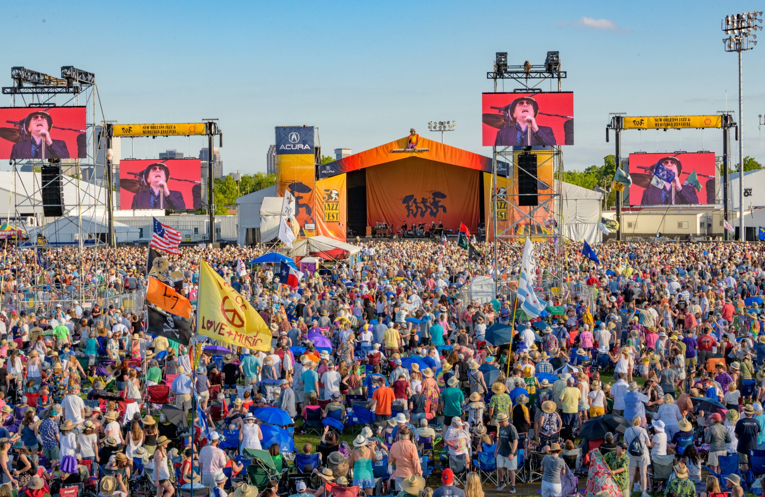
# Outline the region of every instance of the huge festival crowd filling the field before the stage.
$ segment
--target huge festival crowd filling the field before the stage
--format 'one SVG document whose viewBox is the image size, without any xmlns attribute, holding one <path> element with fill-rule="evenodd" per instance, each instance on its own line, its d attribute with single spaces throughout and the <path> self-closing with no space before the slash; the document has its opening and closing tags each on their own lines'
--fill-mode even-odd
<svg viewBox="0 0 765 497">
<path fill-rule="evenodd" d="M 721 482 L 734 495 L 757 488 L 759 245 L 610 242 L 594 263 L 579 244 L 539 243 L 532 280 L 561 282 L 555 294 L 540 287 L 539 317 L 519 313 L 512 294 L 470 296 L 474 276 L 516 278 L 520 245 L 500 245 L 497 274 L 451 243 L 359 245 L 360 262 L 331 261 L 297 287 L 272 265 L 239 274 L 259 247 L 163 254 L 192 304 L 200 258 L 230 281 L 269 326 L 268 350 L 177 343 L 148 333 L 143 311 L 82 297 L 144 287 L 145 247 L 51 249 L 44 261 L 6 247 L 0 482 L 29 497 L 70 485 L 127 497 L 142 481 L 157 497 L 194 487 L 480 497 L 488 471 L 498 492 L 538 474 L 545 497 L 575 493 L 580 477 L 598 497 L 646 497 L 663 461 L 665 490 L 683 497 Z M 34 304 L 9 305 L 20 294 Z M 213 345 L 225 349 L 204 352 Z M 262 408 L 286 417 L 271 422 Z M 295 453 L 280 430 L 301 440 Z M 277 468 L 264 479 L 250 474 L 257 450 Z M 702 466 L 724 473 L 736 456 L 726 478 L 702 478 Z"/>
</svg>

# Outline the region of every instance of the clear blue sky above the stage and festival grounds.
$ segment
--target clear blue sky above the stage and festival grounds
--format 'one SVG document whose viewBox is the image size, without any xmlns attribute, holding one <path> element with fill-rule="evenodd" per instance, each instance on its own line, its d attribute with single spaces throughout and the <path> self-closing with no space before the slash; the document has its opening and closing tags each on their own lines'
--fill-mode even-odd
<svg viewBox="0 0 765 497">
<path fill-rule="evenodd" d="M 494 53 L 542 63 L 559 50 L 575 92 L 576 144 L 565 167 L 613 153 L 609 112 L 714 114 L 737 106 L 737 57 L 721 18 L 760 2 L 6 2 L 0 84 L 10 67 L 96 73 L 106 119 L 220 118 L 224 172 L 265 170 L 275 125 L 315 125 L 324 154 L 428 138 L 430 120 L 457 120 L 446 142 L 490 154 L 480 138 L 480 94 Z M 34 7 L 33 7 L 34 6 Z M 34 35 L 33 35 L 34 34 Z M 765 39 L 765 37 L 763 37 Z M 744 154 L 765 160 L 765 44 L 744 53 Z M 543 86 L 545 83 L 543 83 Z M 506 83 L 506 89 L 516 85 Z M 8 105 L 9 97 L 2 97 Z M 60 100 L 59 100 L 60 101 Z M 721 132 L 630 132 L 623 152 L 710 150 Z M 703 144 L 702 144 L 703 141 Z M 135 156 L 175 148 L 197 156 L 202 138 L 136 139 Z M 737 145 L 734 145 L 737 148 Z M 122 142 L 129 157 L 129 140 Z"/>
</svg>

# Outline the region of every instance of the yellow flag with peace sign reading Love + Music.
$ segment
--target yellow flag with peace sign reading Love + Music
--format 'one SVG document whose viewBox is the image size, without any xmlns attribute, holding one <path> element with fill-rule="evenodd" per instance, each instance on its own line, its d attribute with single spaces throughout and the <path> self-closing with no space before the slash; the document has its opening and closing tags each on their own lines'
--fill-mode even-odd
<svg viewBox="0 0 765 497">
<path fill-rule="evenodd" d="M 271 330 L 257 310 L 200 261 L 197 332 L 248 349 L 271 350 Z"/>
</svg>

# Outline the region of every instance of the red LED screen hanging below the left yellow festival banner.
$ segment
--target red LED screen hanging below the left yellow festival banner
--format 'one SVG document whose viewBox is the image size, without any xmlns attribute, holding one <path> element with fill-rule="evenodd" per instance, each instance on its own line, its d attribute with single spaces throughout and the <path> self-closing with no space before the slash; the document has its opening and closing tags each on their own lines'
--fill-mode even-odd
<svg viewBox="0 0 765 497">
<path fill-rule="evenodd" d="M 119 161 L 119 204 L 129 209 L 202 208 L 199 159 L 123 159 Z"/>
</svg>

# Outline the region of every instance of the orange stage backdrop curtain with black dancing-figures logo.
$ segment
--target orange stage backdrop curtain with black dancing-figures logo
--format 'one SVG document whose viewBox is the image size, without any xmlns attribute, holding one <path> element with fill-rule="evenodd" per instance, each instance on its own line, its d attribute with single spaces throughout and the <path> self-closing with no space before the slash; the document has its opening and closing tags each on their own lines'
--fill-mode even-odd
<svg viewBox="0 0 765 497">
<path fill-rule="evenodd" d="M 406 158 L 366 170 L 366 224 L 464 223 L 477 232 L 480 171 L 422 158 Z M 353 209 L 353 206 L 349 206 Z"/>
</svg>

